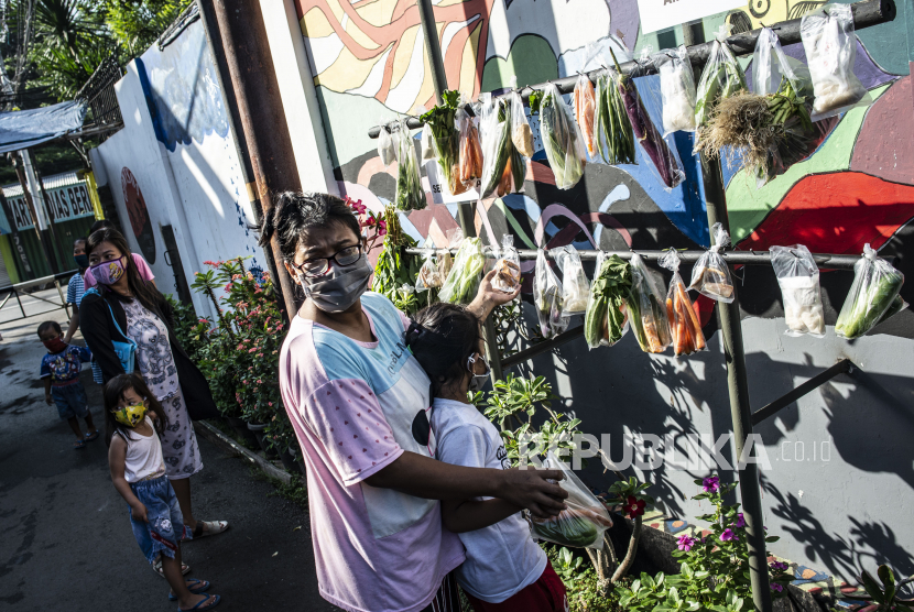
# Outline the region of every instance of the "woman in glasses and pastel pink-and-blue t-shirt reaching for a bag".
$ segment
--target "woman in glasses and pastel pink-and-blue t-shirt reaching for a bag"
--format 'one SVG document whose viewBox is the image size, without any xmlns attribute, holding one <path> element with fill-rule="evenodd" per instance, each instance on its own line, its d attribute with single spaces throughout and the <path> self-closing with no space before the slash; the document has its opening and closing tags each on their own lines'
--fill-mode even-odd
<svg viewBox="0 0 914 612">
<path fill-rule="evenodd" d="M 307 297 L 280 353 L 280 389 L 308 478 L 320 594 L 345 610 L 454 610 L 449 572 L 464 559 L 442 528 L 439 500 L 499 498 L 554 515 L 567 496 L 557 470 L 466 468 L 436 461 L 429 380 L 404 343 L 409 319 L 368 292 L 359 221 L 327 194 L 281 194 L 263 219 Z M 469 309 L 480 320 L 515 294 L 490 272 Z"/>
</svg>

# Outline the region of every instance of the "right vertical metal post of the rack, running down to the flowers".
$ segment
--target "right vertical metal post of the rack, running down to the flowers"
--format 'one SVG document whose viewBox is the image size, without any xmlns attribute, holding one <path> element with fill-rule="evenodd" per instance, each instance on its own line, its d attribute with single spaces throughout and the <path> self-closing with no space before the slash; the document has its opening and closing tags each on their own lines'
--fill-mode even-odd
<svg viewBox="0 0 914 612">
<path fill-rule="evenodd" d="M 705 183 L 705 200 L 708 208 L 708 227 L 722 223 L 729 232 L 727 197 L 719 160 L 708 160 L 701 154 L 701 175 Z M 714 240 L 714 236 L 711 236 Z M 729 265 L 729 264 L 728 264 Z M 732 266 L 730 266 L 732 275 Z M 733 420 L 736 442 L 735 463 L 742 457 L 747 437 L 752 434 L 752 414 L 749 404 L 749 385 L 746 378 L 746 350 L 742 345 L 739 292 L 733 283 L 733 302 L 717 303 L 720 337 L 723 341 L 723 359 L 727 362 L 727 386 L 730 391 L 730 415 Z M 771 587 L 768 580 L 762 495 L 757 463 L 739 465 L 740 498 L 749 533 L 749 576 L 752 583 L 752 601 L 755 612 L 771 612 Z"/>
</svg>

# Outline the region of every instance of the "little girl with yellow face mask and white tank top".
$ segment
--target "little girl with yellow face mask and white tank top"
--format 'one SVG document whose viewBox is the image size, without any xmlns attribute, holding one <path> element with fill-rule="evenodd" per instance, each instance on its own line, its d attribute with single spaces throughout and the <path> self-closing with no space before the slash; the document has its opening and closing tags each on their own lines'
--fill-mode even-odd
<svg viewBox="0 0 914 612">
<path fill-rule="evenodd" d="M 192 532 L 184 525 L 174 489 L 165 476 L 162 444 L 156 431 L 167 422 L 165 411 L 138 373 L 119 374 L 105 385 L 105 441 L 115 489 L 130 507 L 133 536 L 150 564 L 162 559 L 172 587 L 170 601 L 178 611 L 209 610 L 219 595 L 209 595 L 209 582 L 182 577 L 181 540 Z"/>
</svg>

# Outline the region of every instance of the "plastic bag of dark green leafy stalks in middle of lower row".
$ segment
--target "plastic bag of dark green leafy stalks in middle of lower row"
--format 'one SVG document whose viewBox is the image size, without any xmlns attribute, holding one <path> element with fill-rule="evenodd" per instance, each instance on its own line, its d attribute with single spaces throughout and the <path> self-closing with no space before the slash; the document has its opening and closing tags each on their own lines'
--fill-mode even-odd
<svg viewBox="0 0 914 612">
<path fill-rule="evenodd" d="M 628 332 L 625 297 L 631 284 L 629 263 L 619 255 L 607 258 L 600 251 L 584 317 L 584 339 L 590 349 L 611 347 Z"/>
</svg>

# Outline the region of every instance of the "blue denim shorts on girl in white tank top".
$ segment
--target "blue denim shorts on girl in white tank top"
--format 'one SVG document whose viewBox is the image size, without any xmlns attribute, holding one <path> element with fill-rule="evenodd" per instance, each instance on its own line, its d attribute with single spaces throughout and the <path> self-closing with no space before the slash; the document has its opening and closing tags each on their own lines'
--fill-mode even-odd
<svg viewBox="0 0 914 612">
<path fill-rule="evenodd" d="M 137 499 L 146 506 L 148 523 L 134 521 L 130 514 L 133 537 L 149 562 L 155 562 L 162 553 L 174 559 L 178 542 L 191 539 L 191 527 L 184 524 L 181 506 L 177 504 L 172 483 L 166 477 L 153 480 L 131 482 L 130 489 Z M 128 506 L 129 507 L 129 506 Z"/>
</svg>

